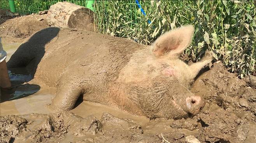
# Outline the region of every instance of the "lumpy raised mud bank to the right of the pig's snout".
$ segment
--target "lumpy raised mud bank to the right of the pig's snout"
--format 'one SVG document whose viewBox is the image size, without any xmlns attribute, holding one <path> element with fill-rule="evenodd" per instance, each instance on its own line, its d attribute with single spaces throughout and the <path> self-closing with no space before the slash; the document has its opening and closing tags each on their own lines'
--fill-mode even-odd
<svg viewBox="0 0 256 143">
<path fill-rule="evenodd" d="M 223 63 L 215 63 L 196 80 L 191 91 L 230 112 L 250 111 L 256 115 L 255 82 L 252 75 L 241 80 Z"/>
</svg>

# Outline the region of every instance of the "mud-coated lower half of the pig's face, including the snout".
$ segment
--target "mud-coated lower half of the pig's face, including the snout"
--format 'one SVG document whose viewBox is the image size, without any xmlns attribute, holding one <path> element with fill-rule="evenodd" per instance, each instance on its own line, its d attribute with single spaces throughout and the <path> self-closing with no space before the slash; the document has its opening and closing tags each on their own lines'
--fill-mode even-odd
<svg viewBox="0 0 256 143">
<path fill-rule="evenodd" d="M 137 95 L 141 110 L 149 118 L 192 117 L 205 105 L 202 97 L 195 96 L 176 78 L 159 75 L 147 82 L 134 84 L 130 94 Z"/>
</svg>

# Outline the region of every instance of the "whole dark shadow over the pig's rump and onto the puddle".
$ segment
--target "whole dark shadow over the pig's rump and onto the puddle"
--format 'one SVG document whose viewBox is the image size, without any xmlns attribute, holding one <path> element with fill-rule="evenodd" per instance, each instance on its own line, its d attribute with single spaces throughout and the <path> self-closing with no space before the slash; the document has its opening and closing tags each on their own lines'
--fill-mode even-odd
<svg viewBox="0 0 256 143">
<path fill-rule="evenodd" d="M 29 84 L 34 78 L 37 66 L 45 54 L 45 45 L 59 33 L 58 27 L 49 27 L 36 32 L 21 44 L 7 62 L 12 87 L 1 89 L 0 102 L 32 95 L 40 90 L 39 85 Z"/>
</svg>

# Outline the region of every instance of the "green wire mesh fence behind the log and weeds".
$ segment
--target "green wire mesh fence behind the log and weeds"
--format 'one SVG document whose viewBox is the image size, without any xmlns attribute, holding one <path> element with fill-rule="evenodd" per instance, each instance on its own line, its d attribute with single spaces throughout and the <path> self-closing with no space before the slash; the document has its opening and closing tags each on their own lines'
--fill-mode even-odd
<svg viewBox="0 0 256 143">
<path fill-rule="evenodd" d="M 75 3 L 76 5 L 80 5 L 82 7 L 86 7 L 88 4 L 88 0 L 14 0 L 15 10 L 16 13 L 20 15 L 29 15 L 32 13 L 38 13 L 42 10 L 48 10 L 51 5 L 54 5 L 57 2 L 71 2 Z M 137 3 L 136 3 L 137 2 Z M 141 0 L 121 0 L 120 3 L 123 4 L 126 14 L 126 21 L 129 22 L 129 26 L 132 28 L 134 24 L 137 24 L 138 19 L 138 3 L 140 3 L 140 7 L 143 7 L 144 2 Z M 2 10 L 10 10 L 8 0 L 0 0 L 0 9 Z M 109 11 L 109 5 L 112 2 L 109 0 L 95 0 L 94 5 L 98 5 L 101 9 L 98 9 L 101 12 L 105 13 L 107 18 Z M 141 8 L 142 9 L 142 8 Z M 139 10 L 141 10 L 139 9 Z M 141 10 L 143 11 L 143 9 Z M 112 11 L 111 11 L 112 12 Z"/>
</svg>

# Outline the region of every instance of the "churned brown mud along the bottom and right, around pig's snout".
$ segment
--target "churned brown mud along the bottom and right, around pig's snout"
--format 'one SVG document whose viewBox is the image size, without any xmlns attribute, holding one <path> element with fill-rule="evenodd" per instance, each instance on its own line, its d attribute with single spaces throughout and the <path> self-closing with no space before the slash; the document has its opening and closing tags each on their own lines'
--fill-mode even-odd
<svg viewBox="0 0 256 143">
<path fill-rule="evenodd" d="M 243 80 L 222 63 L 203 73 L 192 91 L 205 97 L 202 111 L 188 119 L 151 120 L 141 126 L 131 119 L 103 113 L 85 118 L 72 112 L 0 117 L 2 142 L 253 142 L 256 139 L 255 77 Z M 160 128 L 160 129 L 156 129 Z M 163 128 L 163 129 L 161 129 Z"/>
</svg>

